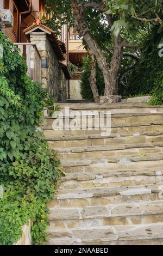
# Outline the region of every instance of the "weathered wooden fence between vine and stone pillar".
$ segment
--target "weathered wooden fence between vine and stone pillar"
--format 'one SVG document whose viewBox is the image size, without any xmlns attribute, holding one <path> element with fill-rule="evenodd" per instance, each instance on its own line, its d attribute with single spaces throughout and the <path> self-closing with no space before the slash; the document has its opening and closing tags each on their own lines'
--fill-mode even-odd
<svg viewBox="0 0 163 256">
<path fill-rule="evenodd" d="M 28 71 L 27 75 L 33 81 L 41 82 L 41 56 L 35 44 L 31 43 L 16 43 L 20 48 L 20 55 L 26 59 Z"/>
</svg>

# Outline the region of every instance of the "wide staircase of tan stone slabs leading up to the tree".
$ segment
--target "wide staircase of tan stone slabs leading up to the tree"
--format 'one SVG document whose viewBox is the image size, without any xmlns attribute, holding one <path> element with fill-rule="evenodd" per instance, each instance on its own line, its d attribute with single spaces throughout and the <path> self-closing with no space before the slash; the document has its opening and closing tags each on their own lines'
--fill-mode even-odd
<svg viewBox="0 0 163 256">
<path fill-rule="evenodd" d="M 67 173 L 48 204 L 48 244 L 163 245 L 163 106 L 60 106 L 111 111 L 111 135 L 54 131 L 57 117 L 45 117 L 45 137 Z"/>
</svg>

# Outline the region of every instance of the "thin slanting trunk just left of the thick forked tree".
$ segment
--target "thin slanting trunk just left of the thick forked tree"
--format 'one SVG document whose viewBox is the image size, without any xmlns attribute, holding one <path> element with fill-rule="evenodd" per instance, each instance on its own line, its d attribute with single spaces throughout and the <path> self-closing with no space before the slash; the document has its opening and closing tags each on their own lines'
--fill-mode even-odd
<svg viewBox="0 0 163 256">
<path fill-rule="evenodd" d="M 87 50 L 89 53 L 89 57 L 91 59 L 91 77 L 90 77 L 90 86 L 93 93 L 93 99 L 95 102 L 99 102 L 99 94 L 98 94 L 98 88 L 96 84 L 96 61 L 95 57 L 91 53 L 90 49 Z"/>
</svg>

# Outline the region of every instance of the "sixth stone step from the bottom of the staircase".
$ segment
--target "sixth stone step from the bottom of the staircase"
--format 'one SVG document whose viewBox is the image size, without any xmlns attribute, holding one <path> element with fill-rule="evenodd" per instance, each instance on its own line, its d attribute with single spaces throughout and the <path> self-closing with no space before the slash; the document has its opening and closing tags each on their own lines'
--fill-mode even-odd
<svg viewBox="0 0 163 256">
<path fill-rule="evenodd" d="M 136 142 L 136 141 L 135 141 Z M 100 142 L 99 142 L 100 143 Z M 102 142 L 103 143 L 103 142 Z M 163 143 L 142 143 L 142 144 L 120 144 L 120 145 L 98 145 L 87 147 L 71 147 L 71 148 L 54 148 L 54 144 L 50 144 L 51 148 L 57 150 L 61 160 L 71 159 L 90 159 L 107 157 L 132 157 L 145 156 L 150 154 L 159 154 L 163 152 Z M 75 145 L 75 144 L 74 144 Z"/>
</svg>

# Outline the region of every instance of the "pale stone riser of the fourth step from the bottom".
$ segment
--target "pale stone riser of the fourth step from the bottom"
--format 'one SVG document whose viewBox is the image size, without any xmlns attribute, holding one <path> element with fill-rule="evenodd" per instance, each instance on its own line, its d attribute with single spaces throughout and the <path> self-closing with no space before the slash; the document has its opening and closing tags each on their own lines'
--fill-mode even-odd
<svg viewBox="0 0 163 256">
<path fill-rule="evenodd" d="M 89 181 L 77 181 L 68 180 L 62 182 L 60 185 L 60 190 L 69 190 L 73 188 L 91 188 L 91 187 L 118 187 L 118 186 L 137 186 L 137 185 L 147 185 L 147 184 L 158 184 L 163 183 L 163 174 L 160 172 L 159 176 L 130 176 L 121 178 L 95 178 Z M 101 176 L 103 177 L 103 176 Z"/>
</svg>

